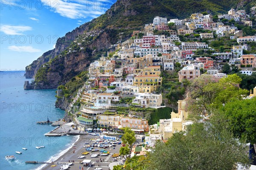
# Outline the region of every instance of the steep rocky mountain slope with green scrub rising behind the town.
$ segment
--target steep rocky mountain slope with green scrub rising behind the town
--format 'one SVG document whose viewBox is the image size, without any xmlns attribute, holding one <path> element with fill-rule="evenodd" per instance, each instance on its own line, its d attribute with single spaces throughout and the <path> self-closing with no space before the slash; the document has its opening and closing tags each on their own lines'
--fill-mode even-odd
<svg viewBox="0 0 256 170">
<path fill-rule="evenodd" d="M 170 19 L 185 18 L 195 12 L 224 13 L 238 1 L 241 0 L 117 0 L 105 14 L 59 38 L 55 49 L 26 67 L 26 78 L 35 77 L 35 88 L 55 88 L 86 69 L 94 59 L 106 55 L 111 44 L 127 39 L 132 30 L 152 22 L 155 16 Z M 73 42 L 75 39 L 80 46 Z"/>
</svg>

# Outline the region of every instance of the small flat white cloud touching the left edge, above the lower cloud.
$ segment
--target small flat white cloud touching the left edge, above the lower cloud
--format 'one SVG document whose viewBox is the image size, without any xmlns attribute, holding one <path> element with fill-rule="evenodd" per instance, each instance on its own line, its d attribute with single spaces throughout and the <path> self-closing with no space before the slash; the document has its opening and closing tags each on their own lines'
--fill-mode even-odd
<svg viewBox="0 0 256 170">
<path fill-rule="evenodd" d="M 11 25 L 1 25 L 0 31 L 7 35 L 23 35 L 21 32 L 30 31 L 32 27 L 30 26 L 11 26 Z"/>
</svg>

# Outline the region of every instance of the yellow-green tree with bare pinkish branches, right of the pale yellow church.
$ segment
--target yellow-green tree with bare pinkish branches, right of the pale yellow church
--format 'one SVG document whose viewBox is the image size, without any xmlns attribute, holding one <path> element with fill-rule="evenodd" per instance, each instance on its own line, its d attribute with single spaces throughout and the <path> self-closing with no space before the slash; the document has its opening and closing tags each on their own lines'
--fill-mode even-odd
<svg viewBox="0 0 256 170">
<path fill-rule="evenodd" d="M 227 75 L 226 78 L 215 78 L 212 75 L 202 75 L 189 84 L 187 91 L 190 94 L 189 111 L 194 115 L 210 114 L 212 108 L 219 108 L 222 104 L 241 99 L 249 92 L 240 89 L 241 78 L 236 75 Z"/>
</svg>

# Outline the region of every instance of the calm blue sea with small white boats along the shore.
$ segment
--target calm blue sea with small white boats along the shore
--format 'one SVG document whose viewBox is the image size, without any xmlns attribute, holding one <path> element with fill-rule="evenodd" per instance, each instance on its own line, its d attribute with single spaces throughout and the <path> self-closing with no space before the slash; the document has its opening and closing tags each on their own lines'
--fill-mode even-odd
<svg viewBox="0 0 256 170">
<path fill-rule="evenodd" d="M 46 137 L 51 125 L 37 121 L 57 121 L 64 111 L 55 108 L 55 89 L 24 90 L 24 71 L 0 72 L 0 170 L 35 170 L 40 164 L 26 161 L 54 161 L 63 155 L 78 136 Z M 36 146 L 45 148 L 36 149 Z M 22 150 L 22 147 L 28 150 Z M 21 151 L 19 155 L 15 151 Z M 15 161 L 5 156 L 14 155 Z"/>
</svg>

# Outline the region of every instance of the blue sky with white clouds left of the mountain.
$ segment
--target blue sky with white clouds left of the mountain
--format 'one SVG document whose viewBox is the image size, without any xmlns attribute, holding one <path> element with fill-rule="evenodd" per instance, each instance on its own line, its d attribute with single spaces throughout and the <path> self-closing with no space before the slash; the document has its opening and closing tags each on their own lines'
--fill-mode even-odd
<svg viewBox="0 0 256 170">
<path fill-rule="evenodd" d="M 20 70 L 116 0 L 0 0 L 0 69 Z"/>
</svg>

